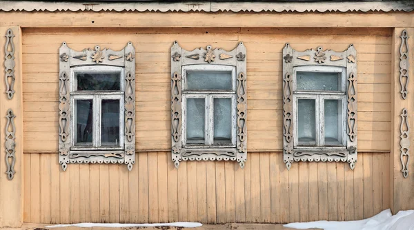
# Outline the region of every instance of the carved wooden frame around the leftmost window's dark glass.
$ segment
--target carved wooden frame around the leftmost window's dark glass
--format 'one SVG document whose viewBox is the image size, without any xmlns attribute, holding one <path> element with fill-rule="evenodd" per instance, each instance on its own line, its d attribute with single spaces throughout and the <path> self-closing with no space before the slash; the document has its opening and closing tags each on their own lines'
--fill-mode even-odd
<svg viewBox="0 0 414 230">
<path fill-rule="evenodd" d="M 121 72 L 121 92 L 76 93 L 75 71 L 116 71 Z M 116 95 L 115 95 L 116 94 Z M 76 147 L 74 136 L 73 100 L 75 97 L 122 98 L 120 100 L 120 139 L 119 147 L 99 147 L 82 149 Z M 122 103 L 124 102 L 124 103 Z M 135 163 L 135 48 L 128 43 L 123 50 L 95 49 L 77 52 L 63 42 L 59 48 L 59 164 L 63 171 L 69 163 L 119 163 L 126 164 L 129 170 Z"/>
</svg>

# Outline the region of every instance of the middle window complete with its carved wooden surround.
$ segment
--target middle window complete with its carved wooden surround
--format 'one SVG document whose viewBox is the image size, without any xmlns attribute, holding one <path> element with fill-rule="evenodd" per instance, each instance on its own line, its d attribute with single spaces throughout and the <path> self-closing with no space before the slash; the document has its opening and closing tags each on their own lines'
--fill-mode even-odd
<svg viewBox="0 0 414 230">
<path fill-rule="evenodd" d="M 172 160 L 246 161 L 246 48 L 171 48 Z M 217 58 L 216 58 L 217 57 Z M 200 59 L 201 58 L 201 59 Z"/>
</svg>

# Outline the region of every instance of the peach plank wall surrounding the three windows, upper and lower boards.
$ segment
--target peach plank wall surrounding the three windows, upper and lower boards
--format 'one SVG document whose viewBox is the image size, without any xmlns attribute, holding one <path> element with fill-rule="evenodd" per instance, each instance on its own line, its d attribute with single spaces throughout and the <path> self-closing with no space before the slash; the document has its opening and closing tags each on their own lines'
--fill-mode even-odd
<svg viewBox="0 0 414 230">
<path fill-rule="evenodd" d="M 23 29 L 24 221 L 295 222 L 357 220 L 390 207 L 392 31 L 382 28 Z M 244 41 L 248 160 L 170 160 L 170 46 Z M 137 160 L 68 165 L 58 151 L 59 46 L 136 48 Z M 282 154 L 282 48 L 357 49 L 358 163 L 295 163 Z"/>
</svg>

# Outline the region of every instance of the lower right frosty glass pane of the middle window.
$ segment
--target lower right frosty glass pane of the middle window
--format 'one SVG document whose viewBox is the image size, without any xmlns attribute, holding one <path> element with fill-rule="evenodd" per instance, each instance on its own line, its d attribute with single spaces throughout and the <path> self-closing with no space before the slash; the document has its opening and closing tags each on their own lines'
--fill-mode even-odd
<svg viewBox="0 0 414 230">
<path fill-rule="evenodd" d="M 214 144 L 231 144 L 231 98 L 214 98 Z"/>
</svg>

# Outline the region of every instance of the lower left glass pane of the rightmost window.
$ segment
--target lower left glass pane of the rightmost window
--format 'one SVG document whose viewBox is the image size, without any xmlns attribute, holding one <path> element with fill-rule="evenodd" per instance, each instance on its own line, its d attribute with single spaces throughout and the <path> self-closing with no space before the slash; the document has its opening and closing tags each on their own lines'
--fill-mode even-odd
<svg viewBox="0 0 414 230">
<path fill-rule="evenodd" d="M 297 100 L 297 140 L 299 145 L 316 145 L 315 100 Z"/>
</svg>

